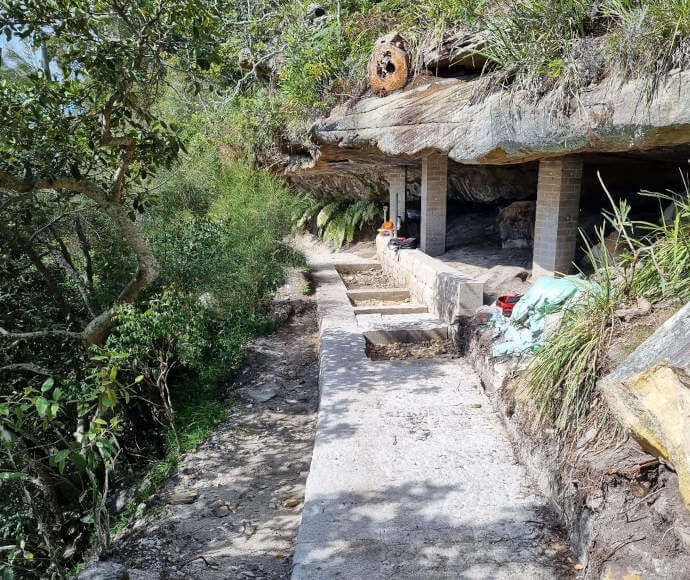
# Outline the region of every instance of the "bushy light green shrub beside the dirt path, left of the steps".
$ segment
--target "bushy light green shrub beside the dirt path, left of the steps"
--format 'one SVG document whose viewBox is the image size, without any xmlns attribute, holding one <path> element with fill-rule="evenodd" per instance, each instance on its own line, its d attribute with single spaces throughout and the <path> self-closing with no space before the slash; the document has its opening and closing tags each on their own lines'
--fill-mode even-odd
<svg viewBox="0 0 690 580">
<path fill-rule="evenodd" d="M 208 143 L 205 144 L 208 146 Z M 162 485 L 180 454 L 195 449 L 223 421 L 220 385 L 236 372 L 249 340 L 271 328 L 270 300 L 287 265 L 303 265 L 284 242 L 291 231 L 293 197 L 274 175 L 244 162 L 221 166 L 206 159 L 207 187 L 192 191 L 182 171 L 168 179 L 160 210 L 147 218 L 145 232 L 163 268 L 153 294 L 123 307 L 108 339 L 110 349 L 143 377 L 159 409 L 163 453 L 146 470 L 148 484 L 118 518 L 122 529 L 136 506 Z M 163 201 L 164 200 L 164 201 Z"/>
</svg>

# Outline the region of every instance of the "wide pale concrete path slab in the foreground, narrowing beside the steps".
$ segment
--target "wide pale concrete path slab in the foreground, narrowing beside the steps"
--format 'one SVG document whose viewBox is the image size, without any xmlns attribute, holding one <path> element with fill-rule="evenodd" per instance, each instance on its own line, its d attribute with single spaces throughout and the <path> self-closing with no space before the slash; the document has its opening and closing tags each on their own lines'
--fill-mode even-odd
<svg viewBox="0 0 690 580">
<path fill-rule="evenodd" d="M 369 360 L 335 270 L 314 271 L 321 401 L 293 580 L 567 577 L 470 365 Z"/>
</svg>

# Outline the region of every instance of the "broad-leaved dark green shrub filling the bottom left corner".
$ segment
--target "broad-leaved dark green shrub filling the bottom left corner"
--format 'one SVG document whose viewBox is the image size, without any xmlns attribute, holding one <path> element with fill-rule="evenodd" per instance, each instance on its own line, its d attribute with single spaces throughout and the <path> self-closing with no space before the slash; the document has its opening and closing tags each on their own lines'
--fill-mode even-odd
<svg viewBox="0 0 690 580">
<path fill-rule="evenodd" d="M 108 544 L 109 477 L 141 395 L 121 372 L 125 359 L 101 350 L 82 380 L 33 378 L 0 397 L 0 509 L 9 516 L 0 573 L 61 576 L 68 547 Z"/>
</svg>

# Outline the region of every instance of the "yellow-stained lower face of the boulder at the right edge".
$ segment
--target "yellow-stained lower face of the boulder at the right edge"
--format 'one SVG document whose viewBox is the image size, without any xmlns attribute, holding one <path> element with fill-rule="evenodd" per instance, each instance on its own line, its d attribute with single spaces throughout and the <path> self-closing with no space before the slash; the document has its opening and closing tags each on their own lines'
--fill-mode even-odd
<svg viewBox="0 0 690 580">
<path fill-rule="evenodd" d="M 600 383 L 621 424 L 678 474 L 690 509 L 690 375 L 667 363 L 623 381 Z"/>
</svg>

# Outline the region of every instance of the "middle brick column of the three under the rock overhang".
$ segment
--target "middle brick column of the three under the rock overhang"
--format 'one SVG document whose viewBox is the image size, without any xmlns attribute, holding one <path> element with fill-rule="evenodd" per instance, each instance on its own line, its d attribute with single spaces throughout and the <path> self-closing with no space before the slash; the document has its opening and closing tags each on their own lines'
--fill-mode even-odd
<svg viewBox="0 0 690 580">
<path fill-rule="evenodd" d="M 422 223 L 419 246 L 430 256 L 446 251 L 448 156 L 432 153 L 422 159 Z"/>
</svg>

